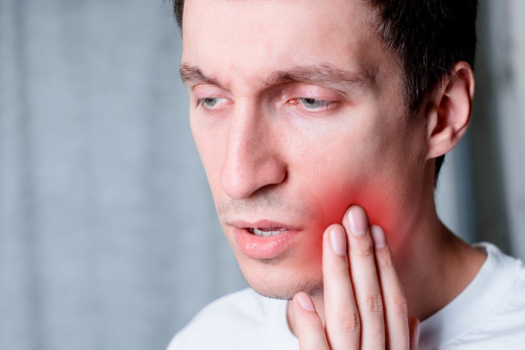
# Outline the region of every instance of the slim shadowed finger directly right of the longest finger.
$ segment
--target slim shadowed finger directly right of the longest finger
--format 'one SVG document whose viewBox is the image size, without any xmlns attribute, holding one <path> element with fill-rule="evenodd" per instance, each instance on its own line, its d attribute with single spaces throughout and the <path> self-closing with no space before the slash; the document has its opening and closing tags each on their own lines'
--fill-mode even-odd
<svg viewBox="0 0 525 350">
<path fill-rule="evenodd" d="M 408 308 L 403 287 L 394 267 L 392 251 L 380 226 L 372 225 L 370 230 L 384 302 L 386 342 L 388 348 L 407 349 L 409 346 Z"/>
</svg>

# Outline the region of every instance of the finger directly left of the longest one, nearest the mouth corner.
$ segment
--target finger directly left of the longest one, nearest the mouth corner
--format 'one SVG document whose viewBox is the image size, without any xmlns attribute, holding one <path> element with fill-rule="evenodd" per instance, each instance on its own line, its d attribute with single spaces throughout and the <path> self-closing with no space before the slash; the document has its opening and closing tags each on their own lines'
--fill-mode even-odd
<svg viewBox="0 0 525 350">
<path fill-rule="evenodd" d="M 346 233 L 330 225 L 323 235 L 324 330 L 332 349 L 359 348 L 360 322 L 348 271 Z"/>
</svg>

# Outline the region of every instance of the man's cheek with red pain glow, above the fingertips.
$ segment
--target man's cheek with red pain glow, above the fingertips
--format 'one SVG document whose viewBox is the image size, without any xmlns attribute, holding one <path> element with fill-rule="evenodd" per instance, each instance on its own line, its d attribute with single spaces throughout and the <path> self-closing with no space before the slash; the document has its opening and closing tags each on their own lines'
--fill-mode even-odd
<svg viewBox="0 0 525 350">
<path fill-rule="evenodd" d="M 340 223 L 352 204 L 365 209 L 370 224 L 381 225 L 385 231 L 395 227 L 395 208 L 403 206 L 407 182 L 402 147 L 395 144 L 390 130 L 366 126 L 359 134 L 332 137 L 329 150 L 303 159 L 296 173 L 310 189 L 312 203 L 320 208 L 323 227 Z"/>
</svg>

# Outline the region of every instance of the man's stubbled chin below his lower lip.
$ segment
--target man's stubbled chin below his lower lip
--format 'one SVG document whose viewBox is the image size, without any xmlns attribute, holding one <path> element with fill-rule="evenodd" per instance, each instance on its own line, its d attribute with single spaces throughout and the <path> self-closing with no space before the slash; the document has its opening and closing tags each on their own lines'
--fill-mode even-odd
<svg viewBox="0 0 525 350">
<path fill-rule="evenodd" d="M 312 297 L 323 293 L 322 273 L 294 273 L 281 270 L 272 262 L 259 263 L 261 266 L 258 269 L 240 268 L 250 288 L 259 295 L 271 299 L 292 300 L 299 292 L 306 292 Z"/>
</svg>

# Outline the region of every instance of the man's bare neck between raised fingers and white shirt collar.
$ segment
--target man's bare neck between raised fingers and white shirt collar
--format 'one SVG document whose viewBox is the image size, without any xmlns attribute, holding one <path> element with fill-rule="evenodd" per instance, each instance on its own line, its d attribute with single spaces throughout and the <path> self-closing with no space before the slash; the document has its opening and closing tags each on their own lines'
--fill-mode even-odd
<svg viewBox="0 0 525 350">
<path fill-rule="evenodd" d="M 394 263 L 408 304 L 408 317 L 424 321 L 453 300 L 474 279 L 486 255 L 456 237 L 439 220 L 434 201 L 391 243 Z M 425 211 L 423 210 L 423 211 Z M 423 219 L 422 219 L 423 218 Z M 324 324 L 324 296 L 312 298 Z M 295 331 L 291 302 L 287 317 Z"/>
</svg>

